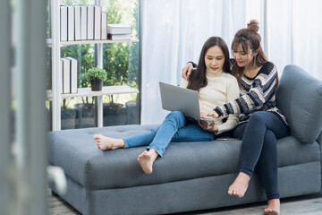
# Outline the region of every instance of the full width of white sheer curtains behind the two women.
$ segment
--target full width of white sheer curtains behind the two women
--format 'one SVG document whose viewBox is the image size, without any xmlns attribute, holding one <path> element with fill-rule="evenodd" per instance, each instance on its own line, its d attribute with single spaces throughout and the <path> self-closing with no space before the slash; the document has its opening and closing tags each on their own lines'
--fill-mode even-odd
<svg viewBox="0 0 322 215">
<path fill-rule="evenodd" d="M 318 0 L 141 0 L 141 124 L 160 124 L 168 113 L 161 107 L 158 82 L 179 84 L 182 67 L 188 61 L 198 62 L 209 37 L 222 37 L 231 47 L 236 31 L 251 19 L 258 20 L 262 46 L 280 74 L 286 64 L 298 64 L 322 79 L 321 4 Z"/>
</svg>

